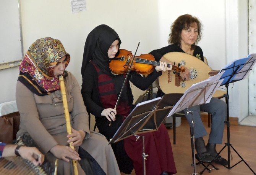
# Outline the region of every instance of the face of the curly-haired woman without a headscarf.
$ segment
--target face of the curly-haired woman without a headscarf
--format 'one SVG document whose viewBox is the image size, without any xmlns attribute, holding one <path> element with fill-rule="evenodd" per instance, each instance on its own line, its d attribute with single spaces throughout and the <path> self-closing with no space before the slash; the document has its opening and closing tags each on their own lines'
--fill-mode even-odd
<svg viewBox="0 0 256 175">
<path fill-rule="evenodd" d="M 198 28 L 196 22 L 192 24 L 188 29 L 182 29 L 181 31 L 181 45 L 193 45 L 198 37 Z"/>
</svg>

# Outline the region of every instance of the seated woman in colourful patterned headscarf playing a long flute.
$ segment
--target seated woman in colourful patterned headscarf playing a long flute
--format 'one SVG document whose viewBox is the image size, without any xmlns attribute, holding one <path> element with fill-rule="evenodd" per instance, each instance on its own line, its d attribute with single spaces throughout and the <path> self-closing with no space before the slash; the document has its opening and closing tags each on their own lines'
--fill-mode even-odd
<svg viewBox="0 0 256 175">
<path fill-rule="evenodd" d="M 16 101 L 20 113 L 18 135 L 28 133 L 51 162 L 58 161 L 58 174 L 73 174 L 71 159 L 79 161 L 78 174 L 120 174 L 115 155 L 106 138 L 89 131 L 86 107 L 76 78 L 64 78 L 72 134 L 67 134 L 59 75 L 70 55 L 59 40 L 36 40 L 19 67 Z M 72 137 L 68 140 L 69 137 Z M 68 145 L 73 142 L 76 150 Z"/>
</svg>

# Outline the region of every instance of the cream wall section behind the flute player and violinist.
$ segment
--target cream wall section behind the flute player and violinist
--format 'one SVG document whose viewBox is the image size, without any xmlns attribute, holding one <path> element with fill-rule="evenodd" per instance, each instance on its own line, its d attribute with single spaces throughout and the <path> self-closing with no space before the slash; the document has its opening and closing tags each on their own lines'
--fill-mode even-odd
<svg viewBox="0 0 256 175">
<path fill-rule="evenodd" d="M 81 84 L 81 63 L 88 33 L 97 25 L 112 27 L 122 40 L 121 48 L 147 53 L 159 47 L 156 0 L 87 0 L 87 11 L 72 14 L 70 0 L 23 0 L 21 2 L 24 50 L 37 38 L 50 36 L 62 41 L 71 62 L 71 71 Z M 49 6 L 50 4 L 50 6 Z M 44 9 L 44 10 L 43 10 Z M 39 13 L 34 13 L 34 12 Z M 151 35 L 154 33 L 154 35 Z M 136 89 L 135 87 L 133 90 Z M 134 95 L 142 92 L 135 91 Z"/>
</svg>

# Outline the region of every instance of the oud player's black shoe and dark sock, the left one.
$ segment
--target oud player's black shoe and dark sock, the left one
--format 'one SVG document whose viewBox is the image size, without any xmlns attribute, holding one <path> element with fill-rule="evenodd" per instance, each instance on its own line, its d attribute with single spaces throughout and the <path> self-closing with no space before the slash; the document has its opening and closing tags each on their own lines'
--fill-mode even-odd
<svg viewBox="0 0 256 175">
<path fill-rule="evenodd" d="M 197 152 L 196 157 L 198 157 L 198 159 L 201 162 L 211 162 L 212 161 L 212 157 L 211 157 L 210 153 L 207 152 L 203 137 L 196 138 L 195 148 L 196 148 L 196 152 Z"/>
</svg>

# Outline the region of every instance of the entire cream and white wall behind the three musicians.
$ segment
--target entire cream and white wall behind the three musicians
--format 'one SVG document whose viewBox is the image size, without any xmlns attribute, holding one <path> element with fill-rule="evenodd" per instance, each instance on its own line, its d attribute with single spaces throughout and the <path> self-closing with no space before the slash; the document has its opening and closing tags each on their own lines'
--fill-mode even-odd
<svg viewBox="0 0 256 175">
<path fill-rule="evenodd" d="M 121 48 L 138 54 L 166 46 L 170 25 L 182 14 L 192 14 L 203 23 L 203 39 L 198 45 L 203 49 L 212 69 L 220 70 L 226 64 L 226 8 L 228 0 L 87 0 L 87 11 L 72 14 L 70 0 L 22 0 L 21 20 L 24 52 L 31 43 L 42 37 L 62 41 L 71 62 L 71 71 L 81 84 L 81 62 L 84 42 L 88 33 L 97 25 L 107 24 L 115 29 L 122 40 Z M 238 30 L 238 27 L 237 27 Z M 238 43 L 238 40 L 236 41 Z M 237 43 L 234 43 L 235 45 Z M 232 57 L 238 58 L 237 56 Z M 15 99 L 18 69 L 1 71 L 6 86 L 1 87 L 0 102 Z M 2 78 L 1 78 L 2 79 Z M 9 81 L 11 80 L 11 81 Z M 15 81 L 14 81 L 15 80 Z M 133 87 L 135 99 L 141 94 Z"/>
</svg>

